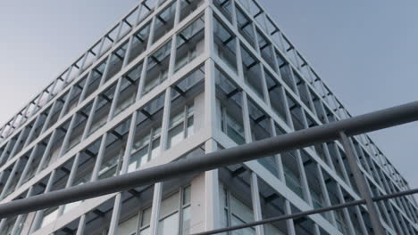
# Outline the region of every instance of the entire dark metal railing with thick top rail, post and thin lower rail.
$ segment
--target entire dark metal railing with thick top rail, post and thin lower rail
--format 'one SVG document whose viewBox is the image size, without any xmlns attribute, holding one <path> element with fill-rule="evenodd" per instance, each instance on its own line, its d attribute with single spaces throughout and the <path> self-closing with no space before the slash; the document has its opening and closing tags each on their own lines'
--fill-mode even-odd
<svg viewBox="0 0 418 235">
<path fill-rule="evenodd" d="M 372 194 L 366 187 L 364 175 L 360 173 L 358 168 L 359 166 L 355 160 L 354 151 L 347 138 L 348 136 L 364 134 L 391 126 L 414 122 L 416 120 L 418 120 L 418 101 L 389 109 L 381 109 L 379 111 L 374 111 L 354 118 L 347 118 L 322 126 L 314 126 L 312 128 L 303 129 L 290 134 L 283 134 L 258 142 L 239 145 L 227 150 L 207 153 L 196 158 L 180 159 L 179 161 L 161 166 L 150 167 L 130 174 L 121 174 L 112 178 L 96 182 L 88 182 L 64 190 L 55 190 L 45 194 L 32 196 L 27 199 L 14 200 L 8 203 L 0 204 L 0 218 L 26 214 L 32 211 L 46 209 L 48 207 L 56 207 L 79 200 L 91 199 L 113 192 L 130 190 L 135 187 L 146 186 L 155 182 L 163 182 L 187 174 L 201 173 L 222 166 L 230 166 L 246 162 L 248 160 L 254 160 L 256 158 L 268 157 L 272 154 L 302 149 L 321 142 L 339 140 L 342 142 L 344 149 L 346 150 L 347 160 L 352 172 L 355 175 L 355 182 L 359 188 L 362 199 L 297 214 L 273 217 L 263 221 L 233 226 L 226 229 L 205 231 L 198 234 L 215 234 L 222 231 L 232 231 L 263 223 L 271 223 L 273 221 L 313 215 L 343 207 L 353 207 L 360 204 L 366 204 L 368 208 L 373 231 L 375 231 L 376 234 L 384 234 L 373 201 L 410 195 L 417 193 L 418 190 L 407 190 L 404 192 L 372 198 Z"/>
</svg>

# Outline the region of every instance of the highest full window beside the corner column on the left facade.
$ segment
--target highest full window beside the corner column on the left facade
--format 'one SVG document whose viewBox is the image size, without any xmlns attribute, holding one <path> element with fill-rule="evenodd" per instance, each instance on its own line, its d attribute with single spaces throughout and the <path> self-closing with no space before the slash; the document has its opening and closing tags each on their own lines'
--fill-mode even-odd
<svg viewBox="0 0 418 235">
<path fill-rule="evenodd" d="M 205 50 L 205 19 L 201 16 L 183 29 L 177 36 L 175 70 L 193 61 Z"/>
</svg>

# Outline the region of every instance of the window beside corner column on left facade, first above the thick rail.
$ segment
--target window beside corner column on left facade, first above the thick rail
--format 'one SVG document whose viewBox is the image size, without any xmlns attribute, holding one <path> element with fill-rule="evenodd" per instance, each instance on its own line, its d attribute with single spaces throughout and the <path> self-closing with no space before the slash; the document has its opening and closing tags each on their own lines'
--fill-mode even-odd
<svg viewBox="0 0 418 235">
<path fill-rule="evenodd" d="M 185 105 L 170 118 L 167 149 L 193 135 L 193 104 Z"/>
</svg>

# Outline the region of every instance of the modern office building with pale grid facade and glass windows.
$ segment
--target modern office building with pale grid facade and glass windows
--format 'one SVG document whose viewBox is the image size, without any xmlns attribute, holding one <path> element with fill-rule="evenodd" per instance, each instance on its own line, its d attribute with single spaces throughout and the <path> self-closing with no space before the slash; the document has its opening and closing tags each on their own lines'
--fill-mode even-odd
<svg viewBox="0 0 418 235">
<path fill-rule="evenodd" d="M 254 0 L 143 0 L 0 129 L 1 203 L 349 118 Z M 408 190 L 365 134 L 374 196 Z M 4 218 L 0 234 L 191 234 L 361 199 L 340 142 Z M 414 197 L 375 204 L 417 234 Z M 365 206 L 229 234 L 372 234 Z M 226 233 L 225 233 L 226 234 Z"/>
</svg>

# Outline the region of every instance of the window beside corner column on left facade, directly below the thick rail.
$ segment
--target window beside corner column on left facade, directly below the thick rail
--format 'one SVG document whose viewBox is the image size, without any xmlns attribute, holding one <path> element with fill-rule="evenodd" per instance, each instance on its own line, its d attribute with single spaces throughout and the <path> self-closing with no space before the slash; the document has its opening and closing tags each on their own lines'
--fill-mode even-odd
<svg viewBox="0 0 418 235">
<path fill-rule="evenodd" d="M 161 202 L 157 234 L 189 234 L 190 218 L 190 186 L 188 186 Z"/>
</svg>

